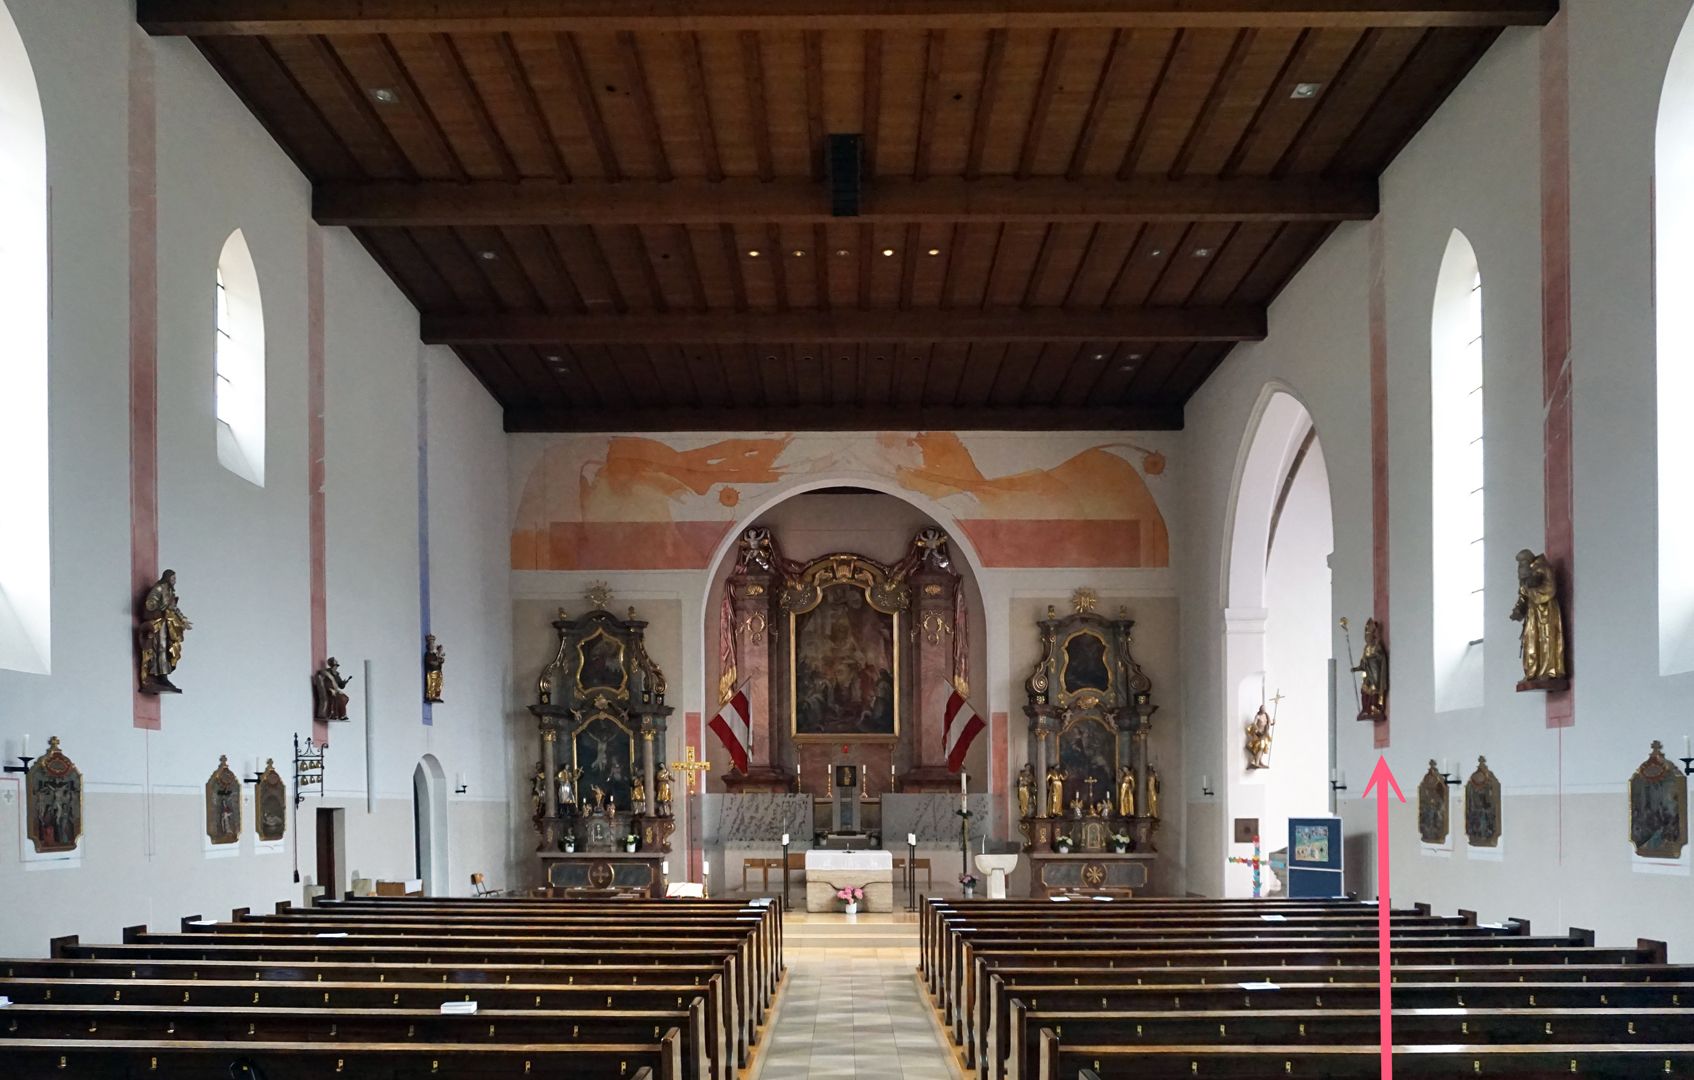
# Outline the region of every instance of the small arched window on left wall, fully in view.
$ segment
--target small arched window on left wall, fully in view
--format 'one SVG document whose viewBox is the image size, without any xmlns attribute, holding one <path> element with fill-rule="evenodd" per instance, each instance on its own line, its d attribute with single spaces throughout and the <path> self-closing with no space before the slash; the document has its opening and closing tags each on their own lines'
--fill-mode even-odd
<svg viewBox="0 0 1694 1080">
<path fill-rule="evenodd" d="M 241 230 L 217 257 L 217 459 L 264 488 L 264 306 Z"/>
</svg>

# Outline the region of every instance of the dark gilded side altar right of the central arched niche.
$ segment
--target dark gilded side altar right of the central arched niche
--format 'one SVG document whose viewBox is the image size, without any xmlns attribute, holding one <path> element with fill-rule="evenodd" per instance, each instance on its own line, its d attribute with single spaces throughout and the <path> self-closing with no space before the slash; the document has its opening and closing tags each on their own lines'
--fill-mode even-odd
<svg viewBox="0 0 1694 1080">
<path fill-rule="evenodd" d="M 1018 831 L 1030 895 L 1133 894 L 1152 879 L 1159 774 L 1147 760 L 1152 679 L 1130 652 L 1135 623 L 1094 611 L 1038 623 L 1042 657 L 1025 681 L 1030 753 L 1018 775 Z"/>
</svg>

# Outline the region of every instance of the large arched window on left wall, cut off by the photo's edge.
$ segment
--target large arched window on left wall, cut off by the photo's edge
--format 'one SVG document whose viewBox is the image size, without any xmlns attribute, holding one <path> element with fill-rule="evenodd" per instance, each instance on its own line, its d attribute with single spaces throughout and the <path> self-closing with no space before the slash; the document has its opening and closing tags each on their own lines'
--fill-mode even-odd
<svg viewBox="0 0 1694 1080">
<path fill-rule="evenodd" d="M 24 39 L 0 0 L 0 667 L 46 674 L 53 545 L 47 532 L 47 134 Z"/>
</svg>

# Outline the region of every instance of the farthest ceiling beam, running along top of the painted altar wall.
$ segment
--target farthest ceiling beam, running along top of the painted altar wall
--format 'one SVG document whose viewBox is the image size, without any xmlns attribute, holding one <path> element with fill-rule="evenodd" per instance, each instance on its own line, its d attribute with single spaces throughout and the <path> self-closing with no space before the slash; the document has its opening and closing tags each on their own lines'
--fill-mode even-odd
<svg viewBox="0 0 1694 1080">
<path fill-rule="evenodd" d="M 507 432 L 1179 432 L 1181 405 L 1082 408 L 518 408 Z"/>
</svg>

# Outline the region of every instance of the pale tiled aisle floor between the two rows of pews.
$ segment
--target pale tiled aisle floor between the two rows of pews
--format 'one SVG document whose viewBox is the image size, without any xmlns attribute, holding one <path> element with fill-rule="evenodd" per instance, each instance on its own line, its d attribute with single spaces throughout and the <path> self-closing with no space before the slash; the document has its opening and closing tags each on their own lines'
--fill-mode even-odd
<svg viewBox="0 0 1694 1080">
<path fill-rule="evenodd" d="M 905 914 L 789 912 L 788 984 L 750 1080 L 954 1080 Z"/>
</svg>

